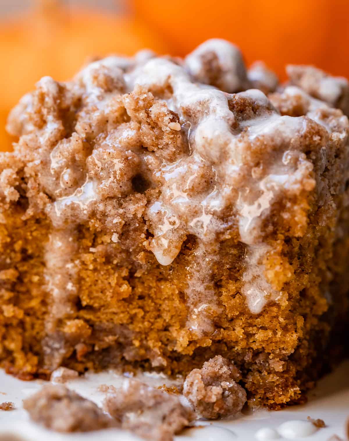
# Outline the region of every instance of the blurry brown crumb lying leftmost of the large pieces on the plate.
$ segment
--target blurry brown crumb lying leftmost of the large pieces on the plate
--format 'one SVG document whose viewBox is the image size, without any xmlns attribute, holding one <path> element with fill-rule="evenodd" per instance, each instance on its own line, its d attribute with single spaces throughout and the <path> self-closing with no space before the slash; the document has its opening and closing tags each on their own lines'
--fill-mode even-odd
<svg viewBox="0 0 349 441">
<path fill-rule="evenodd" d="M 46 385 L 23 401 L 30 418 L 57 432 L 88 432 L 113 426 L 95 403 L 64 385 Z"/>
</svg>

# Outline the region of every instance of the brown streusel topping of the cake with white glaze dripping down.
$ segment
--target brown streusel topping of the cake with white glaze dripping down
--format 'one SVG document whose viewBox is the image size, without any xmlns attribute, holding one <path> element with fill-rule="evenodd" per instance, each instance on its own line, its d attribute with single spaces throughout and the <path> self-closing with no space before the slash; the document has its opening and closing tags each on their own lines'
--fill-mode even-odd
<svg viewBox="0 0 349 441">
<path fill-rule="evenodd" d="M 292 82 L 302 86 L 295 69 Z M 346 145 L 348 119 L 297 86 L 269 100 L 252 84 L 265 92 L 277 86 L 261 65 L 248 74 L 239 50 L 222 40 L 184 60 L 143 51 L 96 61 L 70 82 L 42 78 L 12 111 L 8 130 L 20 137 L 15 155 L 27 164 L 29 212 L 44 210 L 54 227 L 48 271 L 70 265 L 77 225 L 94 222 L 117 243 L 138 216 L 149 232 L 143 247 L 161 265 L 174 261 L 188 235 L 197 238 L 186 292 L 191 329 L 210 326 L 203 311 L 217 306 L 209 273 L 224 240 L 246 247 L 250 310 L 281 299 L 286 280 L 270 283 L 264 267 L 273 225 L 304 234 L 309 194 L 321 192 L 329 155 Z M 327 102 L 335 105 L 338 93 Z M 8 202 L 19 197 L 15 179 L 9 164 L 1 174 Z M 51 286 L 60 308 L 62 280 Z"/>
</svg>

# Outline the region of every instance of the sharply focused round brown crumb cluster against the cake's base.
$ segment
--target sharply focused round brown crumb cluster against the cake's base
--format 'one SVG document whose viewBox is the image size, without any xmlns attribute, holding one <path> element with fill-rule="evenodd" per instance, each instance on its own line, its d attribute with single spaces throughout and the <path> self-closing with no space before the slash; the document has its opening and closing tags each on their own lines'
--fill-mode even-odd
<svg viewBox="0 0 349 441">
<path fill-rule="evenodd" d="M 209 419 L 227 417 L 237 414 L 246 403 L 246 392 L 236 382 L 240 378 L 233 363 L 216 355 L 187 375 L 183 393 L 198 415 Z"/>
</svg>

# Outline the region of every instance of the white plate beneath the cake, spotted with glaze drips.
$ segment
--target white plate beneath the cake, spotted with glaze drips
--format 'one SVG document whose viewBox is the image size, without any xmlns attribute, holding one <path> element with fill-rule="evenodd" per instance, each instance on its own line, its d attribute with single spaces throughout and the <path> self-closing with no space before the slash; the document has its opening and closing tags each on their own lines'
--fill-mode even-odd
<svg viewBox="0 0 349 441">
<path fill-rule="evenodd" d="M 153 385 L 173 384 L 164 376 L 144 374 L 142 381 Z M 98 392 L 101 384 L 118 385 L 122 377 L 109 371 L 100 374 L 86 374 L 66 383 L 81 395 L 101 404 L 104 394 Z M 0 441 L 136 441 L 138 437 L 116 429 L 100 430 L 84 434 L 58 434 L 43 429 L 29 421 L 26 411 L 22 409 L 22 400 L 40 389 L 43 381 L 20 381 L 0 371 L 0 403 L 12 401 L 16 409 L 0 411 Z M 255 433 L 262 427 L 277 428 L 281 423 L 289 420 L 306 420 L 310 416 L 314 419 L 323 419 L 326 427 L 319 429 L 315 434 L 302 438 L 309 441 L 327 441 L 336 434 L 345 439 L 345 422 L 349 417 L 349 361 L 342 363 L 338 369 L 324 377 L 317 388 L 309 393 L 309 401 L 301 406 L 292 406 L 282 411 L 254 411 L 246 412 L 239 418 L 220 421 L 199 421 L 204 428 L 191 429 L 180 436 L 176 441 L 255 441 Z M 18 440 L 10 437 L 17 435 Z M 301 439 L 301 438 L 295 438 Z M 282 438 L 280 438 L 282 440 Z"/>
</svg>

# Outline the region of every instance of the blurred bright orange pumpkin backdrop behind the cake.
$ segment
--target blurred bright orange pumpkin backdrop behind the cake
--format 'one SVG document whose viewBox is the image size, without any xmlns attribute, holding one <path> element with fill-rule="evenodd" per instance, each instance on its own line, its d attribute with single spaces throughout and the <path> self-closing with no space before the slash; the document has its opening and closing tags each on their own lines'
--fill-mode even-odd
<svg viewBox="0 0 349 441">
<path fill-rule="evenodd" d="M 281 78 L 287 63 L 349 77 L 348 0 L 30 3 L 31 10 L 12 16 L 0 3 L 0 149 L 11 146 L 4 124 L 18 99 L 43 75 L 70 78 L 88 56 L 131 55 L 143 47 L 183 56 L 221 37 L 242 49 L 247 64 L 264 60 Z"/>
</svg>

